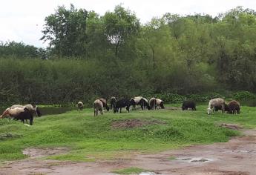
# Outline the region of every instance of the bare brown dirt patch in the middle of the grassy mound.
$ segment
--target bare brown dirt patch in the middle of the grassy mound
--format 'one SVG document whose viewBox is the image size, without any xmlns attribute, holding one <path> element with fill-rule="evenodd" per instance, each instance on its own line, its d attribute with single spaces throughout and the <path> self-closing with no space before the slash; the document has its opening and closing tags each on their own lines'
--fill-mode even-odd
<svg viewBox="0 0 256 175">
<path fill-rule="evenodd" d="M 144 121 L 140 119 L 122 119 L 111 123 L 111 128 L 136 128 L 145 125 L 165 124 L 160 120 Z"/>
</svg>

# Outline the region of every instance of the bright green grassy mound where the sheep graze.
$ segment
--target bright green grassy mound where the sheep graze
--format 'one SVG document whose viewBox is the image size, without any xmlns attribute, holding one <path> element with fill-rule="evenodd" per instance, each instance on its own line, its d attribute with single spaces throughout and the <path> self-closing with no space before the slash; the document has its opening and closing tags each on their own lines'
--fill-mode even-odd
<svg viewBox="0 0 256 175">
<path fill-rule="evenodd" d="M 174 106 L 174 105 L 172 105 Z M 47 159 L 95 161 L 128 158 L 136 153 L 164 151 L 192 144 L 227 142 L 237 131 L 220 123 L 237 123 L 256 128 L 256 108 L 242 107 L 240 115 L 206 114 L 206 105 L 197 111 L 136 110 L 107 112 L 93 116 L 92 109 L 72 110 L 59 115 L 35 118 L 33 126 L 8 119 L 0 120 L 0 161 L 24 159 L 24 148 L 67 147 L 67 153 Z M 129 128 L 131 127 L 131 128 Z"/>
</svg>

